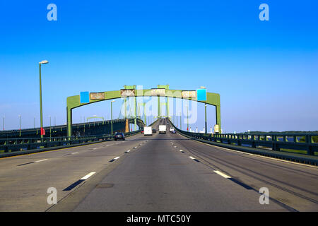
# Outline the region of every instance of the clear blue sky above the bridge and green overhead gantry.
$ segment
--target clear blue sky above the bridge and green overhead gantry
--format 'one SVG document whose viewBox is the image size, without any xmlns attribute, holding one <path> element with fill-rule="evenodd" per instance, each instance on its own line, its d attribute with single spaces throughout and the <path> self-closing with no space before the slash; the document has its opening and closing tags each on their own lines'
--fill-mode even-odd
<svg viewBox="0 0 318 226">
<path fill-rule="evenodd" d="M 57 21 L 47 5 L 57 5 Z M 269 21 L 259 5 L 269 5 Z M 6 129 L 66 122 L 66 97 L 123 85 L 220 93 L 223 130 L 318 130 L 317 1 L 1 1 Z M 121 101 L 114 102 L 114 115 Z M 110 117 L 110 102 L 75 109 Z M 204 126 L 204 107 L 192 128 Z M 215 123 L 208 107 L 208 127 Z M 53 122 L 52 122 L 53 124 Z M 2 127 L 1 120 L 1 129 Z M 185 128 L 185 126 L 183 127 Z"/>
</svg>

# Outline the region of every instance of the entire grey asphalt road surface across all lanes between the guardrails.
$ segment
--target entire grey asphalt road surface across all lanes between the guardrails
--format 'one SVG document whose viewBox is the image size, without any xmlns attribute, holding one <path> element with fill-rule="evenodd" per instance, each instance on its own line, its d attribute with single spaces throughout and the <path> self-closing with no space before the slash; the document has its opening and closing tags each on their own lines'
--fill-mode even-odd
<svg viewBox="0 0 318 226">
<path fill-rule="evenodd" d="M 207 145 L 169 127 L 0 159 L 0 211 L 318 211 L 317 167 Z M 51 187 L 56 205 L 47 203 Z M 259 202 L 261 188 L 269 204 Z"/>
</svg>

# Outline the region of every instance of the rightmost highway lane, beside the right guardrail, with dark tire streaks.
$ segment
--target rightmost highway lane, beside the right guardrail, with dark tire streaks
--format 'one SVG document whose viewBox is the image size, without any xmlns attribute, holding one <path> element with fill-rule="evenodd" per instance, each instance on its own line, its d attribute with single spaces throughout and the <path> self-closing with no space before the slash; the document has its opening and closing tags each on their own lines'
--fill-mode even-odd
<svg viewBox="0 0 318 226">
<path fill-rule="evenodd" d="M 318 167 L 220 148 L 179 134 L 175 139 L 175 145 L 202 164 L 255 191 L 267 187 L 272 201 L 298 211 L 318 211 Z"/>
</svg>

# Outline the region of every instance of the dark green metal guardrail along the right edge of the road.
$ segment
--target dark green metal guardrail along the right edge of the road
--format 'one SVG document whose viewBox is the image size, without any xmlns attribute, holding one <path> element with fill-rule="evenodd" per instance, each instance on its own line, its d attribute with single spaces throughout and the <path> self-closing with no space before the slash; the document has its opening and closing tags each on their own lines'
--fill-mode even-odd
<svg viewBox="0 0 318 226">
<path fill-rule="evenodd" d="M 172 124 L 171 121 L 170 123 Z M 318 142 L 316 142 L 318 133 L 211 134 L 192 133 L 174 127 L 179 133 L 196 141 L 257 155 L 318 165 L 318 156 L 314 155 L 318 152 Z M 284 149 L 304 150 L 306 154 L 293 153 Z"/>
</svg>

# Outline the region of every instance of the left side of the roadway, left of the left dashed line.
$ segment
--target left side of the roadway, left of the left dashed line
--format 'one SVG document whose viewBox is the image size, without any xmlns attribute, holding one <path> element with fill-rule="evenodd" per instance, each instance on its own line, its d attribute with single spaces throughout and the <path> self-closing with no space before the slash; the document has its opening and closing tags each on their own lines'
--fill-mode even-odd
<svg viewBox="0 0 318 226">
<path fill-rule="evenodd" d="M 146 142 L 140 138 L 143 136 L 0 159 L 0 211 L 47 210 L 49 187 L 57 189 L 57 200 L 61 200 L 81 186 L 66 189 L 78 179 L 108 168 L 111 160 L 124 157 L 127 150 L 134 152 L 134 147 Z"/>
</svg>

